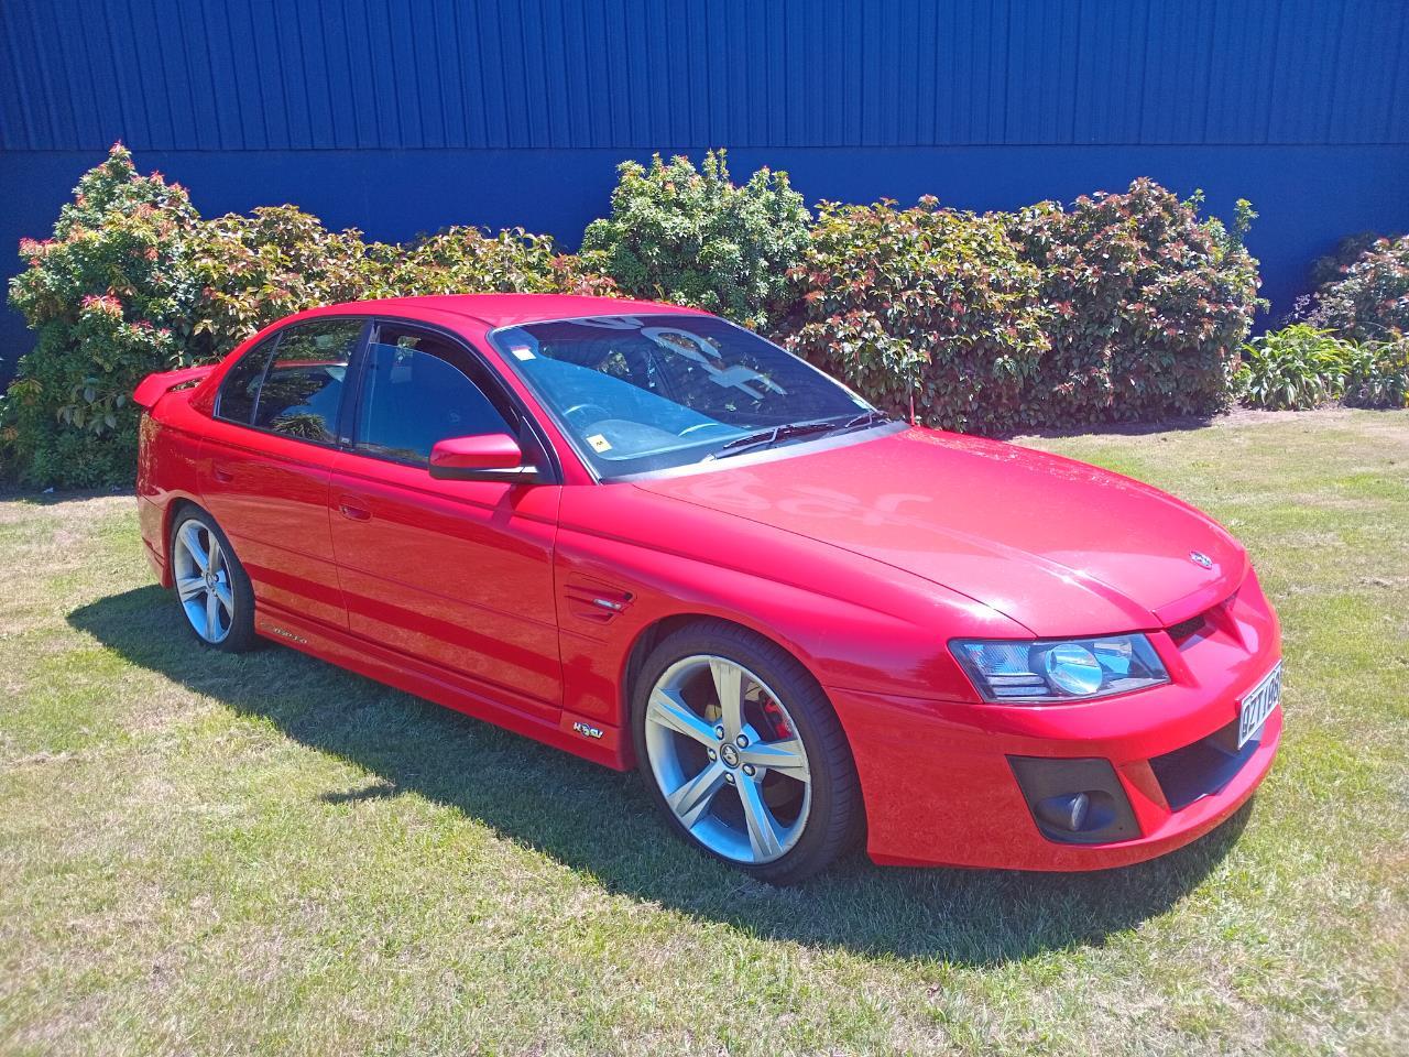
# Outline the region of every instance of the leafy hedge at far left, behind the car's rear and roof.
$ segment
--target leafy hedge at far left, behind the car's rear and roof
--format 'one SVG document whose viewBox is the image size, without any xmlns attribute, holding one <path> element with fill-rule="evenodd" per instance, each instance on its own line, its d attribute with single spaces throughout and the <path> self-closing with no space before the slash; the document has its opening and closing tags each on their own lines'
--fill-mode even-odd
<svg viewBox="0 0 1409 1057">
<path fill-rule="evenodd" d="M 10 303 L 38 334 L 0 400 L 0 464 L 30 485 L 131 482 L 152 371 L 213 362 L 302 309 L 455 290 L 610 293 L 547 235 L 451 228 L 400 245 L 293 206 L 201 220 L 125 148 L 75 187 L 54 238 L 25 240 Z"/>
</svg>

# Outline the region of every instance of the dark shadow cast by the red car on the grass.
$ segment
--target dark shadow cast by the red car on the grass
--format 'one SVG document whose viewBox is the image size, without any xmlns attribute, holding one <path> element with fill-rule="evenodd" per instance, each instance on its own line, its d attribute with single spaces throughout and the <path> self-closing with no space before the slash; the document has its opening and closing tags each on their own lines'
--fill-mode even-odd
<svg viewBox="0 0 1409 1057">
<path fill-rule="evenodd" d="M 365 781 L 310 798 L 310 812 L 418 793 L 609 892 L 810 946 L 965 965 L 1096 946 L 1198 886 L 1251 810 L 1246 806 L 1186 848 L 1113 871 L 879 868 L 858 851 L 803 885 L 774 889 L 676 840 L 634 774 L 596 767 L 293 650 L 269 645 L 232 657 L 201 648 L 169 592 L 155 585 L 82 606 L 69 623 L 135 665 L 366 771 Z M 356 839 L 349 823 L 348 840 Z"/>
</svg>

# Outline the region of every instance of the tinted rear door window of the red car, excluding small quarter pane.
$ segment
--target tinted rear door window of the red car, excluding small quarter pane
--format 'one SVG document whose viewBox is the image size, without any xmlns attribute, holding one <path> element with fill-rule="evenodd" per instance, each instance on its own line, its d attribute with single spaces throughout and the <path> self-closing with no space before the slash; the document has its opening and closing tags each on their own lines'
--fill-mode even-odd
<svg viewBox="0 0 1409 1057">
<path fill-rule="evenodd" d="M 299 440 L 335 443 L 342 382 L 361 333 L 362 320 L 297 323 L 282 331 L 254 424 Z"/>
</svg>

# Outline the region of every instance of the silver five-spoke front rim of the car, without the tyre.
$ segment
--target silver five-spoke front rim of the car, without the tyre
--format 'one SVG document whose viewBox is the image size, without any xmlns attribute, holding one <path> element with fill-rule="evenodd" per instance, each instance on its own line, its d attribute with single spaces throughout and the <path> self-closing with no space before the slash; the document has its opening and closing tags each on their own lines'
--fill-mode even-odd
<svg viewBox="0 0 1409 1057">
<path fill-rule="evenodd" d="M 645 746 L 665 803 L 700 844 L 735 863 L 772 863 L 812 808 L 807 751 L 788 707 L 724 657 L 685 657 L 655 681 Z"/>
</svg>

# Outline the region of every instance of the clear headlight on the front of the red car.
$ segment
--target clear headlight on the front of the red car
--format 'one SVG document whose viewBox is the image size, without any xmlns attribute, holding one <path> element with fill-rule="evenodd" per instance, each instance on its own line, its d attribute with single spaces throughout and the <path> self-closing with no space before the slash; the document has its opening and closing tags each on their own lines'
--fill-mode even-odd
<svg viewBox="0 0 1409 1057">
<path fill-rule="evenodd" d="M 985 700 L 1047 703 L 1089 700 L 1169 682 L 1144 636 L 950 643 Z"/>
</svg>

